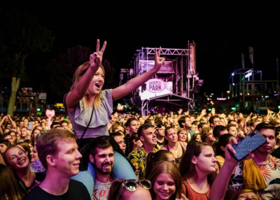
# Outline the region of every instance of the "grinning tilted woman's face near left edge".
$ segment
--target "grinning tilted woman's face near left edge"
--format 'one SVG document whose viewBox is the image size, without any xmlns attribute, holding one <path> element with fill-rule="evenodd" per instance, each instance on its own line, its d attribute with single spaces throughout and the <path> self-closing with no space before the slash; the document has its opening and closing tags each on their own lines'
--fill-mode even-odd
<svg viewBox="0 0 280 200">
<path fill-rule="evenodd" d="M 6 160 L 8 165 L 15 171 L 29 166 L 27 154 L 21 148 L 15 146 L 6 151 Z"/>
</svg>

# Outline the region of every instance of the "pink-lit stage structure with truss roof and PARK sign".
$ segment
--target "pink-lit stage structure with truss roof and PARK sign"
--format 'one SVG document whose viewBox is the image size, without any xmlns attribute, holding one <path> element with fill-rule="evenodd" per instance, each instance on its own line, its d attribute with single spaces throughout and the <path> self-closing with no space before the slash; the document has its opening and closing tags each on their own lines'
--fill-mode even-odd
<svg viewBox="0 0 280 200">
<path fill-rule="evenodd" d="M 137 50 L 133 69 L 121 69 L 120 80 L 123 80 L 122 73 L 132 78 L 153 69 L 154 55 L 155 48 Z M 203 84 L 195 66 L 195 43 L 188 41 L 186 49 L 162 48 L 160 56 L 165 57 L 164 65 L 153 78 L 132 92 L 130 100 L 132 103 L 141 102 L 141 113 L 144 115 L 147 115 L 152 101 L 171 103 L 192 112 L 195 93 Z"/>
</svg>

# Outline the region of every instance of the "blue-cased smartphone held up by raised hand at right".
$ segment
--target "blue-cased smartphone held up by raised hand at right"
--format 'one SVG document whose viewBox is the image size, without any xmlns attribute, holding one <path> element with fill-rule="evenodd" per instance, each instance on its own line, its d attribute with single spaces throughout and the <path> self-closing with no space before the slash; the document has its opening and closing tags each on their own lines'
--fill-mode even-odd
<svg viewBox="0 0 280 200">
<path fill-rule="evenodd" d="M 254 130 L 237 144 L 232 145 L 236 152 L 236 154 L 232 153 L 232 156 L 240 161 L 247 157 L 250 151 L 256 150 L 266 142 L 266 138 L 259 131 Z"/>
</svg>

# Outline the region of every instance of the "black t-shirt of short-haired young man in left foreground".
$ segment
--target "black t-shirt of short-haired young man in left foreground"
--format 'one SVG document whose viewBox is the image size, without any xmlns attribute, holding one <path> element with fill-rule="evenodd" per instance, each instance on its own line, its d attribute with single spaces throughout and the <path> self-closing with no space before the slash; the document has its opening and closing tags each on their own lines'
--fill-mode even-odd
<svg viewBox="0 0 280 200">
<path fill-rule="evenodd" d="M 37 186 L 25 198 L 22 200 L 90 200 L 90 194 L 87 192 L 87 188 L 83 183 L 80 183 L 77 180 L 70 179 L 69 188 L 65 194 L 62 195 L 52 195 L 45 190 L 42 190 L 41 187 Z"/>
</svg>

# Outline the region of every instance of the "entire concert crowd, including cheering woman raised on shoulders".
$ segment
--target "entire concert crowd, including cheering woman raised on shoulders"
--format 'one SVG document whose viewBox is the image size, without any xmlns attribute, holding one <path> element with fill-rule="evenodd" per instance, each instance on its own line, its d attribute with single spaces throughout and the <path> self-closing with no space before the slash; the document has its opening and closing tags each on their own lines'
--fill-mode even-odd
<svg viewBox="0 0 280 200">
<path fill-rule="evenodd" d="M 160 69 L 102 90 L 106 42 L 74 75 L 67 114 L 0 116 L 0 199 L 280 199 L 280 111 L 113 113 Z M 48 128 L 50 127 L 50 129 Z M 233 144 L 266 142 L 238 162 Z"/>
</svg>

